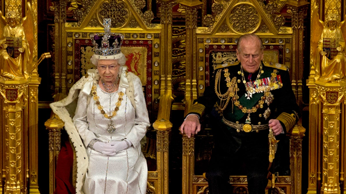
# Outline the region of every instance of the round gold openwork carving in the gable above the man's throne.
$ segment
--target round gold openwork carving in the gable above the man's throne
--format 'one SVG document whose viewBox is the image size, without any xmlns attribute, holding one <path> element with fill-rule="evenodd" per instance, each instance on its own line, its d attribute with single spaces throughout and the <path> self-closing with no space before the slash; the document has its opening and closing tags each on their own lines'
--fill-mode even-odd
<svg viewBox="0 0 346 194">
<path fill-rule="evenodd" d="M 249 4 L 235 6 L 229 15 L 229 23 L 239 33 L 254 32 L 260 25 L 261 16 L 255 7 Z"/>
</svg>

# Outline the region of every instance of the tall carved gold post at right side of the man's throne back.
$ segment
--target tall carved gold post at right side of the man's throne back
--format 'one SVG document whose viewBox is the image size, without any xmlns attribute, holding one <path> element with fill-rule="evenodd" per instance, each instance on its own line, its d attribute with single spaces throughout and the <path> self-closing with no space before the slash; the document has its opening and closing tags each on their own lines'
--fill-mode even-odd
<svg viewBox="0 0 346 194">
<path fill-rule="evenodd" d="M 306 0 L 287 2 L 287 8 L 292 14 L 292 89 L 298 104 L 302 102 L 303 97 L 304 18 L 307 15 L 308 4 Z"/>
</svg>

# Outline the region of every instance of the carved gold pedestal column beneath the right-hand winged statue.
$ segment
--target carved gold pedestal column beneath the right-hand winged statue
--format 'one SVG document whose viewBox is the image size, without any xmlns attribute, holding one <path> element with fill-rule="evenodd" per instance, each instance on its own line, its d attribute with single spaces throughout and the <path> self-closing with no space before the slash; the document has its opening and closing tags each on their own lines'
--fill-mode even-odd
<svg viewBox="0 0 346 194">
<path fill-rule="evenodd" d="M 340 193 L 339 186 L 339 136 L 340 103 L 344 100 L 346 82 L 319 83 L 317 92 L 322 101 L 322 188 L 324 194 Z"/>
</svg>

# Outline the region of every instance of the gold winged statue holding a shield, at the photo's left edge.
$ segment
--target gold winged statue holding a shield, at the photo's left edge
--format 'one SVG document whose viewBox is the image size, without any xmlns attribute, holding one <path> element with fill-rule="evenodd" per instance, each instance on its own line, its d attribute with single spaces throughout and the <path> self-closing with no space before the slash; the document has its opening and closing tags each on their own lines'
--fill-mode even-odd
<svg viewBox="0 0 346 194">
<path fill-rule="evenodd" d="M 32 18 L 23 18 L 22 25 L 15 11 L 8 11 L 5 16 L 4 18 L 0 12 L 0 29 L 3 29 L 0 35 L 0 76 L 5 80 L 28 79 L 31 74 L 33 44 L 30 45 L 29 40 L 32 38 L 28 40 L 25 31 L 33 33 Z"/>
</svg>

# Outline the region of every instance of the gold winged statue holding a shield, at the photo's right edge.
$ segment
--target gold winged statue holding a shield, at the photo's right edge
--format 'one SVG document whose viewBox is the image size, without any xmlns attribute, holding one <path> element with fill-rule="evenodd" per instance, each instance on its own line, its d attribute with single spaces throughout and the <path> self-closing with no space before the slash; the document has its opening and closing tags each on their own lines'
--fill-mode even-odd
<svg viewBox="0 0 346 194">
<path fill-rule="evenodd" d="M 317 13 L 317 8 L 315 8 Z M 314 26 L 317 26 L 316 33 L 311 37 L 316 42 L 316 80 L 336 81 L 344 79 L 346 76 L 345 58 L 345 22 L 339 25 L 338 17 L 335 13 L 329 13 L 326 21 L 319 20 L 318 15 Z M 342 31 L 344 30 L 344 32 Z M 319 39 L 317 38 L 318 36 Z M 318 39 L 318 43 L 317 43 Z M 314 47 L 314 45 L 312 45 Z M 313 48 L 315 50 L 315 48 Z"/>
</svg>

